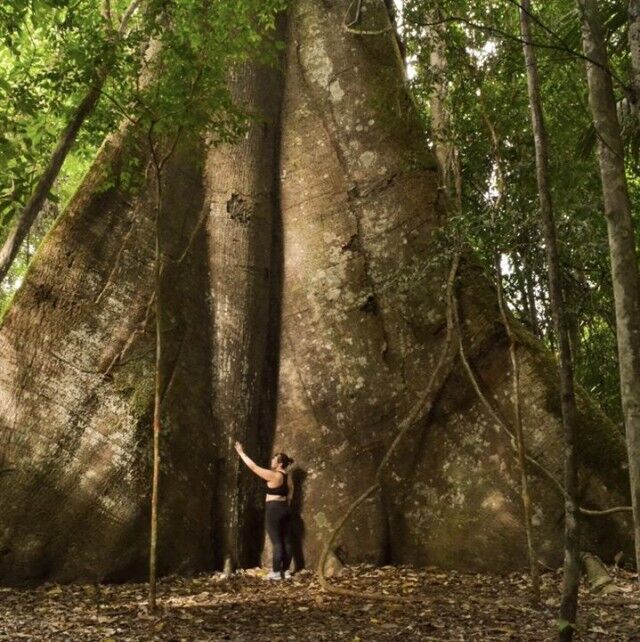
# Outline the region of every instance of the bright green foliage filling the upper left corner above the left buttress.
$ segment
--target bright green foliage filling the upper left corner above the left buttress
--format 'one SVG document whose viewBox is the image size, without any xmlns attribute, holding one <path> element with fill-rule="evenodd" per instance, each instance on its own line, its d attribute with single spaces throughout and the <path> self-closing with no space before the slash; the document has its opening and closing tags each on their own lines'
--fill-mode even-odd
<svg viewBox="0 0 640 642">
<path fill-rule="evenodd" d="M 101 100 L 49 195 L 49 211 L 64 208 L 101 141 L 123 119 L 152 130 L 159 152 L 176 136 L 207 130 L 217 142 L 243 131 L 247 115 L 227 91 L 229 70 L 249 58 L 276 60 L 276 15 L 286 0 L 141 0 L 118 37 L 130 1 L 112 0 L 110 21 L 94 0 L 0 4 L 0 243 L 98 74 L 107 78 Z M 135 188 L 140 168 L 125 168 L 123 177 Z M 42 218 L 47 224 L 21 249 L 0 307 L 55 217 Z"/>
</svg>

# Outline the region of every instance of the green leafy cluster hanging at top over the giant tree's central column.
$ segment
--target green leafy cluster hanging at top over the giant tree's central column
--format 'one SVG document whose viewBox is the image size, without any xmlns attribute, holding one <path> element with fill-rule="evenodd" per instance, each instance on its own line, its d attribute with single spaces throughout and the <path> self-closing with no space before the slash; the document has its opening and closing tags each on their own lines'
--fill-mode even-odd
<svg viewBox="0 0 640 642">
<path fill-rule="evenodd" d="M 282 0 L 168 3 L 153 17 L 159 53 L 149 63 L 154 78 L 135 95 L 155 133 L 181 131 L 215 140 L 242 131 L 245 115 L 227 90 L 229 71 L 247 59 L 275 61 L 275 16 Z"/>
</svg>

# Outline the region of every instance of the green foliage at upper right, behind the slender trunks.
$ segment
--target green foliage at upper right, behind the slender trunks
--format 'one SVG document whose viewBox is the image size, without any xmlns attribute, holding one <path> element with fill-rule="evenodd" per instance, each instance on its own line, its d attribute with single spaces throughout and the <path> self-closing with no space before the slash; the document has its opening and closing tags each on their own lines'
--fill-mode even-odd
<svg viewBox="0 0 640 642">
<path fill-rule="evenodd" d="M 604 3 L 602 11 L 615 91 L 622 104 L 628 97 L 630 77 L 627 4 L 619 0 Z M 606 222 L 575 2 L 534 0 L 533 16 L 565 297 L 580 344 L 575 350 L 576 375 L 607 414 L 620 422 Z M 412 85 L 425 117 L 434 82 L 446 83 L 445 101 L 452 114 L 449 136 L 460 151 L 463 179 L 462 211 L 452 216 L 451 225 L 475 248 L 487 273 L 493 273 L 495 251 L 500 252 L 510 307 L 554 348 L 544 246 L 538 231 L 518 3 L 406 0 L 403 17 L 415 75 Z M 446 45 L 445 78 L 434 75 L 430 65 L 429 29 L 434 28 L 440 30 Z M 496 132 L 497 149 L 488 123 Z M 640 181 L 633 150 L 638 148 L 634 140 L 639 132 L 635 121 L 626 133 L 631 196 L 637 209 Z M 504 177 L 499 203 L 498 166 Z"/>
</svg>

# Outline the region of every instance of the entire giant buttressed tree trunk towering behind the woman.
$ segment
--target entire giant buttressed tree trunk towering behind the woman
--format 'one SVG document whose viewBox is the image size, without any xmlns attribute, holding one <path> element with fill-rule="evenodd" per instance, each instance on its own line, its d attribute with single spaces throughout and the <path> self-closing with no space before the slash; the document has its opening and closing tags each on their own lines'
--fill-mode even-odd
<svg viewBox="0 0 640 642">
<path fill-rule="evenodd" d="M 449 257 L 437 242 L 444 212 L 436 206 L 435 162 L 392 34 L 344 32 L 349 4 L 299 0 L 292 7 L 279 163 L 279 339 L 272 324 L 278 279 L 265 312 L 273 280 L 267 286 L 259 271 L 240 274 L 243 265 L 279 272 L 277 216 L 268 222 L 273 130 L 260 139 L 259 127 L 252 129 L 238 147 L 207 158 L 199 145 L 185 144 L 165 168 L 163 245 L 174 261 L 166 262 L 162 292 L 160 572 L 253 555 L 236 542 L 255 538 L 257 499 L 234 499 L 238 488 L 240 497 L 254 497 L 251 484 L 234 488 L 233 467 L 219 460 L 228 458 L 233 431 L 269 445 L 270 408 L 260 403 L 256 414 L 255 403 L 263 392 L 273 402 L 278 341 L 276 445 L 301 465 L 310 563 L 343 509 L 370 485 L 440 353 Z M 381 3 L 366 4 L 365 27 L 387 20 Z M 256 93 L 244 91 L 238 95 L 249 105 L 264 97 L 260 83 Z M 102 153 L 0 328 L 2 453 L 4 466 L 17 469 L 0 479 L 1 543 L 12 551 L 0 561 L 4 582 L 124 578 L 146 568 L 154 372 L 152 332 L 141 324 L 153 303 L 152 182 L 140 172 L 142 186 L 129 194 L 105 171 L 128 153 L 120 140 Z M 274 240 L 271 250 L 265 236 Z M 467 352 L 508 416 L 508 341 L 495 291 L 469 259 L 458 289 Z M 246 336 L 228 335 L 229 325 Z M 555 364 L 529 335 L 520 332 L 519 341 L 529 452 L 561 476 Z M 239 365 L 225 366 L 234 360 Z M 486 416 L 465 371 L 451 362 L 445 374 L 434 409 L 393 458 L 383 494 L 343 532 L 338 553 L 347 560 L 494 570 L 526 564 L 509 439 Z M 229 411 L 234 399 L 238 419 Z M 584 501 L 625 503 L 623 444 L 582 403 Z M 533 486 L 540 554 L 555 563 L 562 498 L 544 479 Z M 223 487 L 231 499 L 221 508 Z M 588 541 L 600 555 L 628 543 L 620 516 L 594 524 Z"/>
</svg>

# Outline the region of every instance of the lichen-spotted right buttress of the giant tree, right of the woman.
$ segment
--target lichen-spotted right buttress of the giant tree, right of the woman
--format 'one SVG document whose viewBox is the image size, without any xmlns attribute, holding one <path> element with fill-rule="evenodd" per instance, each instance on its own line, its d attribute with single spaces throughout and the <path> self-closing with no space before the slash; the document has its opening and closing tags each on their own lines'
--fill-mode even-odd
<svg viewBox="0 0 640 642">
<path fill-rule="evenodd" d="M 434 366 L 445 328 L 447 261 L 436 241 L 443 212 L 436 205 L 435 163 L 396 68 L 392 35 L 337 28 L 348 4 L 295 3 L 283 108 L 276 439 L 307 472 L 307 561 L 317 559 L 332 525 L 372 483 L 385 446 Z M 367 21 L 379 25 L 383 12 L 366 4 Z M 468 352 L 487 394 L 508 415 L 507 338 L 495 293 L 469 262 L 460 299 Z M 524 333 L 518 358 L 529 452 L 562 478 L 557 370 Z M 581 415 L 589 433 L 579 452 L 589 470 L 584 501 L 624 503 L 624 446 L 603 417 L 588 419 L 591 413 L 584 407 Z M 604 467 L 593 447 L 600 439 L 611 453 Z M 524 566 L 516 458 L 459 366 L 404 453 L 395 458 L 382 496 L 345 527 L 339 556 L 493 570 Z M 540 555 L 556 564 L 563 498 L 542 479 L 532 490 Z M 591 545 L 609 555 L 628 543 L 628 522 L 620 517 L 593 526 Z"/>
</svg>

